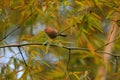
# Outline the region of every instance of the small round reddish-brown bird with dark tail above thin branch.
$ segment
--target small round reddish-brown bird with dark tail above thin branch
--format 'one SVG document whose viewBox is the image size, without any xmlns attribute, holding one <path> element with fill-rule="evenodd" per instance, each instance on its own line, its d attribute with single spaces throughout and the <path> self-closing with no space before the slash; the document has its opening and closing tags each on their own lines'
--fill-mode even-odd
<svg viewBox="0 0 120 80">
<path fill-rule="evenodd" d="M 52 39 L 56 38 L 57 36 L 66 37 L 66 35 L 59 33 L 57 29 L 52 28 L 52 27 L 46 27 L 45 32 Z"/>
</svg>

